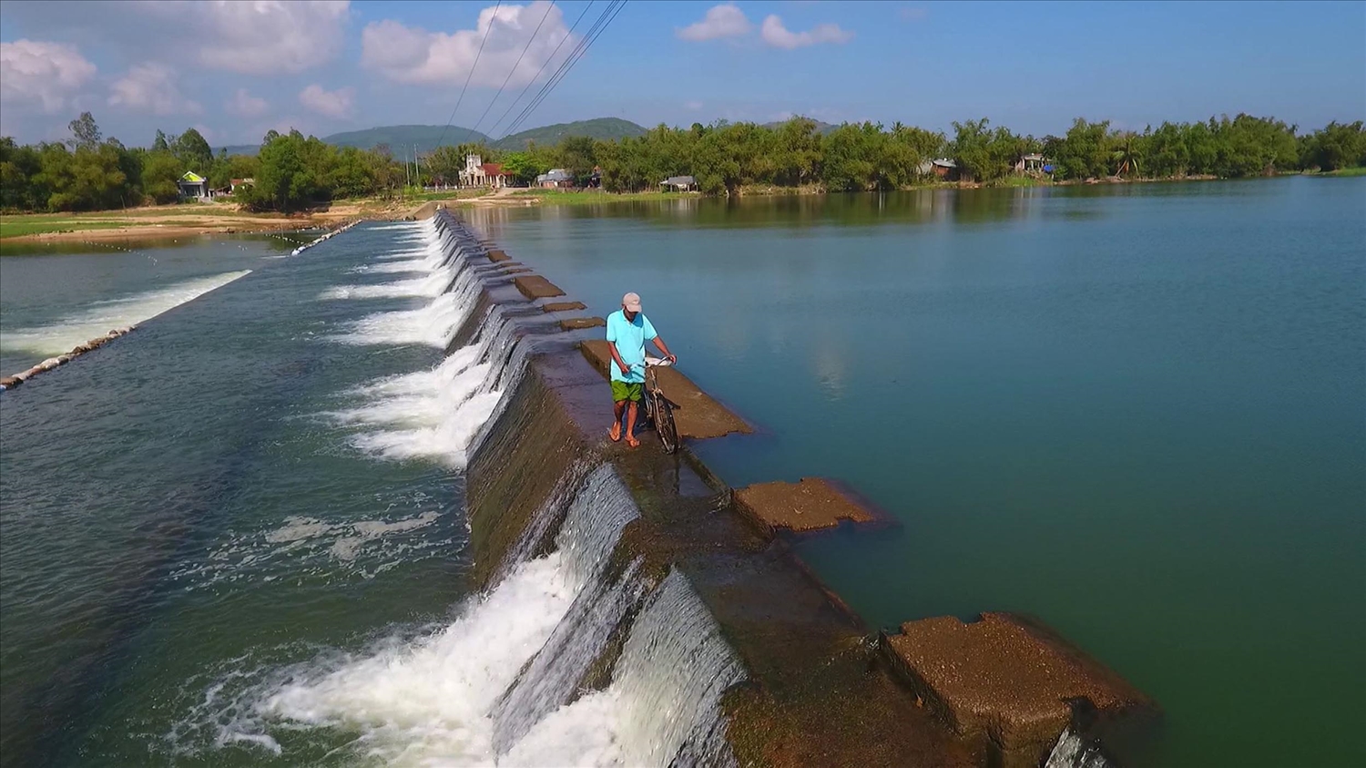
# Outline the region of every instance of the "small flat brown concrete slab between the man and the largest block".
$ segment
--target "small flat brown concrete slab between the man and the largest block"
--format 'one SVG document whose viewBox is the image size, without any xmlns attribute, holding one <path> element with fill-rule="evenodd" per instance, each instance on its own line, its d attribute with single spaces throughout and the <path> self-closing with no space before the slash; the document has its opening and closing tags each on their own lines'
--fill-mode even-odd
<svg viewBox="0 0 1366 768">
<path fill-rule="evenodd" d="M 780 527 L 805 533 L 836 527 L 840 521 L 869 523 L 877 519 L 828 480 L 817 477 L 740 488 L 735 492 L 735 507 L 769 534 Z"/>
</svg>

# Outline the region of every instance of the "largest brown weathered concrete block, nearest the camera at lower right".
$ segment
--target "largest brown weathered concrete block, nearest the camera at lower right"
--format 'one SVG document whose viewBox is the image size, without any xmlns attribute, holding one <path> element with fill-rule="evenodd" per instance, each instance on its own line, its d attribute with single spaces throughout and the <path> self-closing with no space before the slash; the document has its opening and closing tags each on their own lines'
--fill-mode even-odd
<svg viewBox="0 0 1366 768">
<path fill-rule="evenodd" d="M 1156 705 L 1035 622 L 982 614 L 907 622 L 884 634 L 885 656 L 926 705 L 962 737 L 986 737 L 999 764 L 1038 765 L 1085 701 L 1101 716 Z"/>
</svg>

